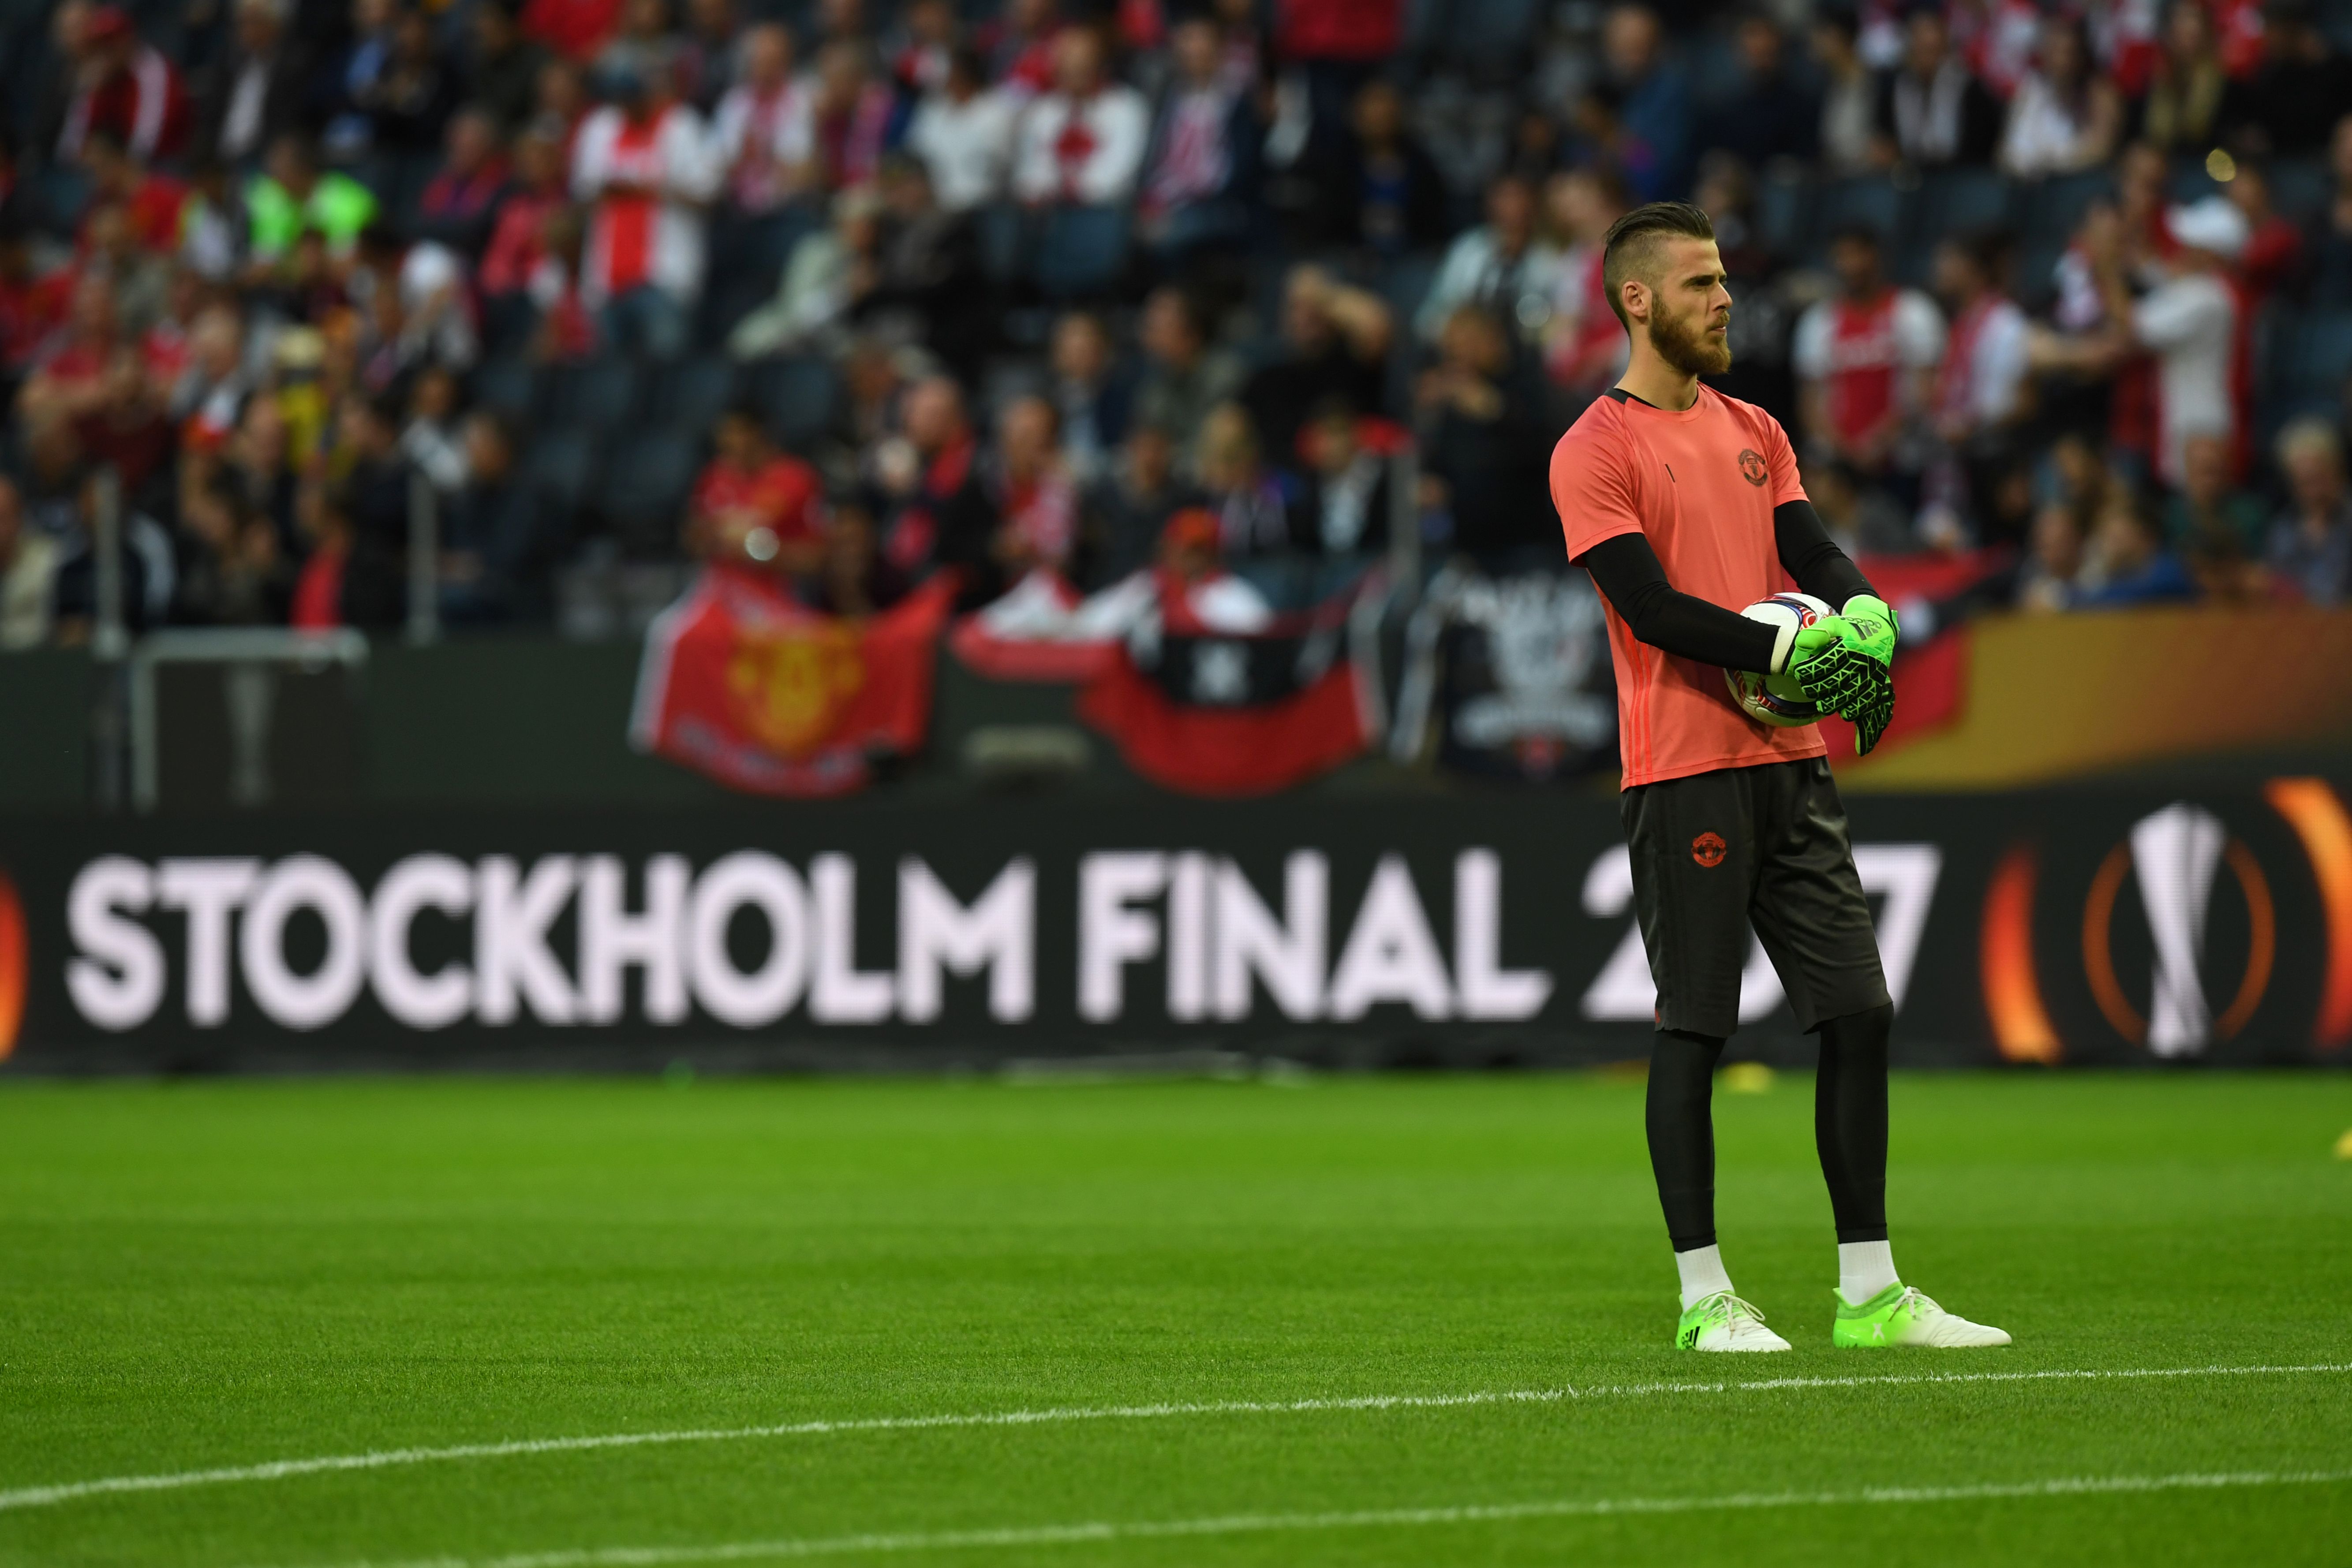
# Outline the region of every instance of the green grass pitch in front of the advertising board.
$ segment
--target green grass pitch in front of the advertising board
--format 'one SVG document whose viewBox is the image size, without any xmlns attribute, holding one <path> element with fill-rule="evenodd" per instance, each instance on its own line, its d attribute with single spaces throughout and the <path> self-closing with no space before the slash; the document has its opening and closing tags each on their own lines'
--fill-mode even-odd
<svg viewBox="0 0 2352 1568">
<path fill-rule="evenodd" d="M 1668 1347 L 1642 1088 L 1602 1077 L 14 1084 L 0 1563 L 2352 1561 L 2352 1077 L 1893 1105 L 1896 1262 L 2013 1349 L 1828 1347 L 1802 1077 L 1717 1098 L 1769 1359 Z M 2025 1371 L 2065 1375 L 1978 1378 Z M 1552 1396 L 38 1490 L 1510 1392 Z"/>
</svg>

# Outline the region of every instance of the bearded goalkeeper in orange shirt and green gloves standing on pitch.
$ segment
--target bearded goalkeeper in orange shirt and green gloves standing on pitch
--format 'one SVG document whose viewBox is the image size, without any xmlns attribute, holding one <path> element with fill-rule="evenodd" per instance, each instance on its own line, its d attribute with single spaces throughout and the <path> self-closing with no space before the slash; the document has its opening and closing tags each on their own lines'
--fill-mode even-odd
<svg viewBox="0 0 2352 1568">
<path fill-rule="evenodd" d="M 1658 985 L 1649 1157 L 1682 1274 L 1684 1349 L 1788 1349 L 1731 1288 L 1715 1241 L 1710 1093 L 1738 1025 L 1755 929 L 1797 1023 L 1820 1034 L 1813 1138 L 1837 1218 L 1835 1345 L 2006 1345 L 1907 1288 L 1886 1244 L 1886 1034 L 1893 1004 L 1846 811 L 1811 724 L 1766 729 L 1722 670 L 1785 672 L 1856 726 L 1893 717 L 1896 618 L 1813 515 L 1788 435 L 1700 386 L 1731 367 L 1731 294 L 1708 214 L 1639 207 L 1609 230 L 1623 381 L 1552 451 L 1569 559 L 1609 604 L 1635 912 Z M 1804 630 L 1738 614 L 1780 588 L 1839 604 Z"/>
</svg>

